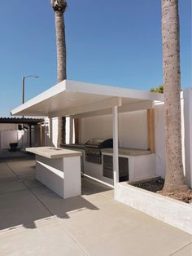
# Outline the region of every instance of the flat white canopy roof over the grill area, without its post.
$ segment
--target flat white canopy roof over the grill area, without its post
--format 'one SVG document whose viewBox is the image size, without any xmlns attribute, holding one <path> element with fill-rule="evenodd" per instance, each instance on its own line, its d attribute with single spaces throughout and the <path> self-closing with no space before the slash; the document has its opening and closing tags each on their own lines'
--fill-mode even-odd
<svg viewBox="0 0 192 256">
<path fill-rule="evenodd" d="M 64 80 L 26 103 L 14 108 L 11 115 L 69 116 L 113 106 L 164 101 L 164 95 L 116 86 Z"/>
</svg>

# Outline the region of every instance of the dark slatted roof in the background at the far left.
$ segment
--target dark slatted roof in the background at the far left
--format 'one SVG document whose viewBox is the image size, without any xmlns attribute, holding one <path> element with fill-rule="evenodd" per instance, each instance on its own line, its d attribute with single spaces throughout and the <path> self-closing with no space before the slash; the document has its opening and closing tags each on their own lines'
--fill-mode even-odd
<svg viewBox="0 0 192 256">
<path fill-rule="evenodd" d="M 44 121 L 41 118 L 26 118 L 26 117 L 0 117 L 0 124 L 28 124 L 37 125 Z"/>
</svg>

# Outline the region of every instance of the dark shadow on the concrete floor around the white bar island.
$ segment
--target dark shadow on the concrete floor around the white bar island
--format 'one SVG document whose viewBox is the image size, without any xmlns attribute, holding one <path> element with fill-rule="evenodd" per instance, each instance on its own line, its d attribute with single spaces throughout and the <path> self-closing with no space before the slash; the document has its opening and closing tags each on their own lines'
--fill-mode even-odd
<svg viewBox="0 0 192 256">
<path fill-rule="evenodd" d="M 36 228 L 36 222 L 58 216 L 71 218 L 82 210 L 99 210 L 83 195 L 110 190 L 82 179 L 82 196 L 63 199 L 35 179 L 32 158 L 0 162 L 0 231 L 16 227 Z"/>
</svg>

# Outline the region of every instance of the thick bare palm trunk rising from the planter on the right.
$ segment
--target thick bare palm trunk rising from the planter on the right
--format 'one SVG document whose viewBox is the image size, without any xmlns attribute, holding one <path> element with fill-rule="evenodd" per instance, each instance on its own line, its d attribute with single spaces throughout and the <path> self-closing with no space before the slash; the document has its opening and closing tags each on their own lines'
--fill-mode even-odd
<svg viewBox="0 0 192 256">
<path fill-rule="evenodd" d="M 181 151 L 181 72 L 178 0 L 162 0 L 166 175 L 164 192 L 185 190 Z"/>
</svg>

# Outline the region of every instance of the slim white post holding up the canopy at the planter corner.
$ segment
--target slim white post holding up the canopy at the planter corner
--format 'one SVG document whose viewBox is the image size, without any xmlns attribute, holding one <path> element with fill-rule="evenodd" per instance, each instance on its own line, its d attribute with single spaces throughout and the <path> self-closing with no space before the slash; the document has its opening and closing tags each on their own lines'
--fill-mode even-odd
<svg viewBox="0 0 192 256">
<path fill-rule="evenodd" d="M 114 187 L 119 183 L 119 149 L 118 149 L 118 111 L 113 107 L 113 180 Z"/>
</svg>

